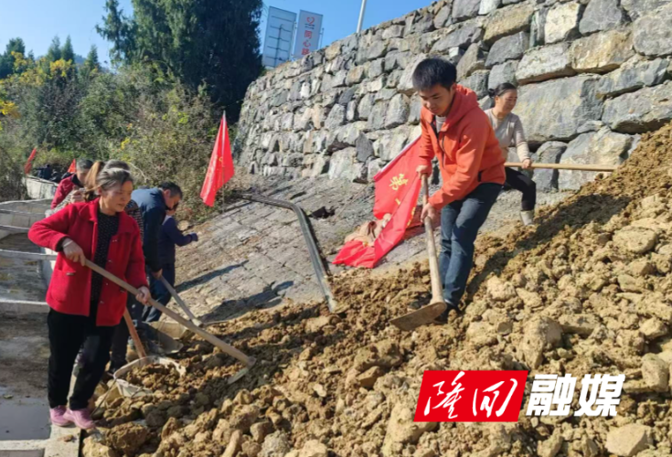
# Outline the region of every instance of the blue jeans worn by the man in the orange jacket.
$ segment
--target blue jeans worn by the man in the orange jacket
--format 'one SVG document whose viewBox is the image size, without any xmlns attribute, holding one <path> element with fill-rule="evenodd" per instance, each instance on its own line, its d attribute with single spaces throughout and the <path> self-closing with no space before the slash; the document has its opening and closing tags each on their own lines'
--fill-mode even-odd
<svg viewBox="0 0 672 457">
<path fill-rule="evenodd" d="M 458 306 L 474 265 L 474 242 L 502 186 L 485 183 L 463 200 L 441 211 L 441 254 L 439 270 L 443 278 L 443 299 Z"/>
</svg>

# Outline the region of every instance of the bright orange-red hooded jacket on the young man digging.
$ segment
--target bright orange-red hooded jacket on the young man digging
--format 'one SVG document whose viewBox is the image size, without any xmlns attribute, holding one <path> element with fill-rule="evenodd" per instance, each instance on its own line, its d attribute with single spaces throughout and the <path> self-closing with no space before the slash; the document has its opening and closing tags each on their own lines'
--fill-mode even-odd
<svg viewBox="0 0 672 457">
<path fill-rule="evenodd" d="M 430 197 L 436 209 L 462 200 L 483 183 L 504 184 L 504 157 L 485 112 L 473 90 L 456 85 L 451 111 L 441 132 L 434 133 L 434 115 L 421 110 L 421 158 L 432 164 L 439 159 L 443 187 Z"/>
</svg>

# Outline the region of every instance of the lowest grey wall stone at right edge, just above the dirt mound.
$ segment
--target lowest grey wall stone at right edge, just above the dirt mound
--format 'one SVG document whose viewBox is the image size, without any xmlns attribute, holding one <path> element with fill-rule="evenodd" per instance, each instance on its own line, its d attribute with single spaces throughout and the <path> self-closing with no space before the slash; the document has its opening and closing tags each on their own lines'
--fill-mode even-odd
<svg viewBox="0 0 672 457">
<path fill-rule="evenodd" d="M 604 103 L 603 122 L 622 133 L 656 130 L 672 120 L 672 81 L 626 93 Z"/>
</svg>

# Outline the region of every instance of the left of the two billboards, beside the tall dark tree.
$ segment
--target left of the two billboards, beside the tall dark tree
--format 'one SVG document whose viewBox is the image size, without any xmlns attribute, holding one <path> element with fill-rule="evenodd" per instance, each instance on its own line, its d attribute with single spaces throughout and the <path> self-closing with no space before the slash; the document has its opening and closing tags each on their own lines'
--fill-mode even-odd
<svg viewBox="0 0 672 457">
<path fill-rule="evenodd" d="M 263 53 L 261 54 L 264 67 L 274 69 L 290 60 L 295 22 L 296 13 L 269 7 L 266 36 L 263 40 Z"/>
</svg>

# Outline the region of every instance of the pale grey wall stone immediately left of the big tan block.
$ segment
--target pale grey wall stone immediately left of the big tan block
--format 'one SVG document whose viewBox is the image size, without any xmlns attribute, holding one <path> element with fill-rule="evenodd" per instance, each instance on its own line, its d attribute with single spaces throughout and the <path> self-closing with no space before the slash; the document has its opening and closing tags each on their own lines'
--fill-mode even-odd
<svg viewBox="0 0 672 457">
<path fill-rule="evenodd" d="M 575 75 L 576 71 L 571 68 L 569 49 L 568 43 L 559 43 L 528 50 L 517 66 L 518 82 L 528 84 Z"/>
</svg>

